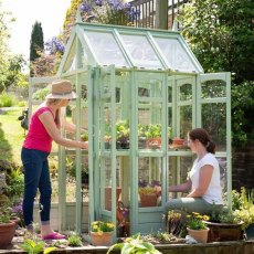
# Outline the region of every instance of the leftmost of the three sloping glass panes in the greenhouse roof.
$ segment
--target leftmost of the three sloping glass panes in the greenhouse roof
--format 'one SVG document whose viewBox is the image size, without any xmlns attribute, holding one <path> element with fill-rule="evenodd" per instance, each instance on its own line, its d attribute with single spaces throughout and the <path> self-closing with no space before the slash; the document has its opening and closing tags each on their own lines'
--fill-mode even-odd
<svg viewBox="0 0 254 254">
<path fill-rule="evenodd" d="M 85 36 L 86 35 L 86 36 Z M 114 35 L 106 32 L 84 31 L 84 38 L 88 40 L 93 53 L 102 65 L 115 64 L 116 66 L 129 66 Z"/>
</svg>

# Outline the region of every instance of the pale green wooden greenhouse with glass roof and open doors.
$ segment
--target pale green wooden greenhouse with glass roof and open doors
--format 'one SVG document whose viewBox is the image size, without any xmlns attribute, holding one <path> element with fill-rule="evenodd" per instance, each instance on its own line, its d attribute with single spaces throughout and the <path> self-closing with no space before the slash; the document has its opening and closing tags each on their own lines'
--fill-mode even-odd
<svg viewBox="0 0 254 254">
<path fill-rule="evenodd" d="M 204 74 L 180 32 L 77 22 L 57 77 L 70 80 L 78 94 L 73 104 L 76 138 L 81 128 L 87 128 L 89 142 L 87 151 L 59 150 L 62 229 L 65 161 L 71 152 L 75 156 L 77 232 L 82 231 L 84 158 L 89 177 L 88 223 L 105 219 L 117 224 L 121 201 L 128 208 L 130 234 L 162 230 L 168 187 L 184 181 L 195 158 L 184 142 L 195 127 L 213 137 L 222 184 L 230 193 L 231 74 Z M 49 80 L 31 78 L 30 95 L 43 81 Z M 152 192 L 152 184 L 160 184 L 162 191 L 149 204 L 142 199 Z"/>
</svg>

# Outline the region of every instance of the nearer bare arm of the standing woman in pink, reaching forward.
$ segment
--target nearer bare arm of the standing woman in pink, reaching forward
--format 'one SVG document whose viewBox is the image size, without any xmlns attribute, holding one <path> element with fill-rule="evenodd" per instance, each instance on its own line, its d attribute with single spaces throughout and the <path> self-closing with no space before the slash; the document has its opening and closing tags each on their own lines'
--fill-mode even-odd
<svg viewBox="0 0 254 254">
<path fill-rule="evenodd" d="M 56 127 L 53 116 L 50 112 L 44 112 L 39 116 L 39 119 L 45 127 L 47 134 L 51 136 L 51 138 L 59 145 L 64 147 L 74 147 L 74 148 L 88 148 L 88 142 L 83 142 L 78 140 L 71 140 L 63 138 L 60 134 L 59 128 Z"/>
</svg>

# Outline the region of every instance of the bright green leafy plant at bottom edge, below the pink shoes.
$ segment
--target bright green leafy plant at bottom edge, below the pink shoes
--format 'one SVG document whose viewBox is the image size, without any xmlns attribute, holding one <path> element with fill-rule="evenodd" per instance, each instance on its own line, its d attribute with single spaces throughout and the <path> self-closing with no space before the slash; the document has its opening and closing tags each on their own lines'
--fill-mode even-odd
<svg viewBox="0 0 254 254">
<path fill-rule="evenodd" d="M 44 250 L 45 243 L 42 241 L 38 241 L 36 239 L 24 239 L 24 242 L 20 245 L 20 247 L 29 254 L 39 254 L 42 252 L 43 254 L 46 254 L 56 250 L 56 247 L 46 247 Z"/>
</svg>

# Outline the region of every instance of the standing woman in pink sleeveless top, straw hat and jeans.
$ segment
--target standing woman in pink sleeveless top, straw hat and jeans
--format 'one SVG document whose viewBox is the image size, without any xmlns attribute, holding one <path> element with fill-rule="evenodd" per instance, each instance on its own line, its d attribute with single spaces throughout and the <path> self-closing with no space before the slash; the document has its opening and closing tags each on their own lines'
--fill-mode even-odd
<svg viewBox="0 0 254 254">
<path fill-rule="evenodd" d="M 45 102 L 33 113 L 25 137 L 21 159 L 24 168 L 23 215 L 28 231 L 32 232 L 33 202 L 36 191 L 40 191 L 41 234 L 43 240 L 64 239 L 51 229 L 51 180 L 47 157 L 52 140 L 64 147 L 87 149 L 88 144 L 63 138 L 60 128 L 70 133 L 76 131 L 76 126 L 61 118 L 61 108 L 66 107 L 71 99 L 76 98 L 68 81 L 60 80 L 51 84 L 51 93 Z"/>
</svg>

